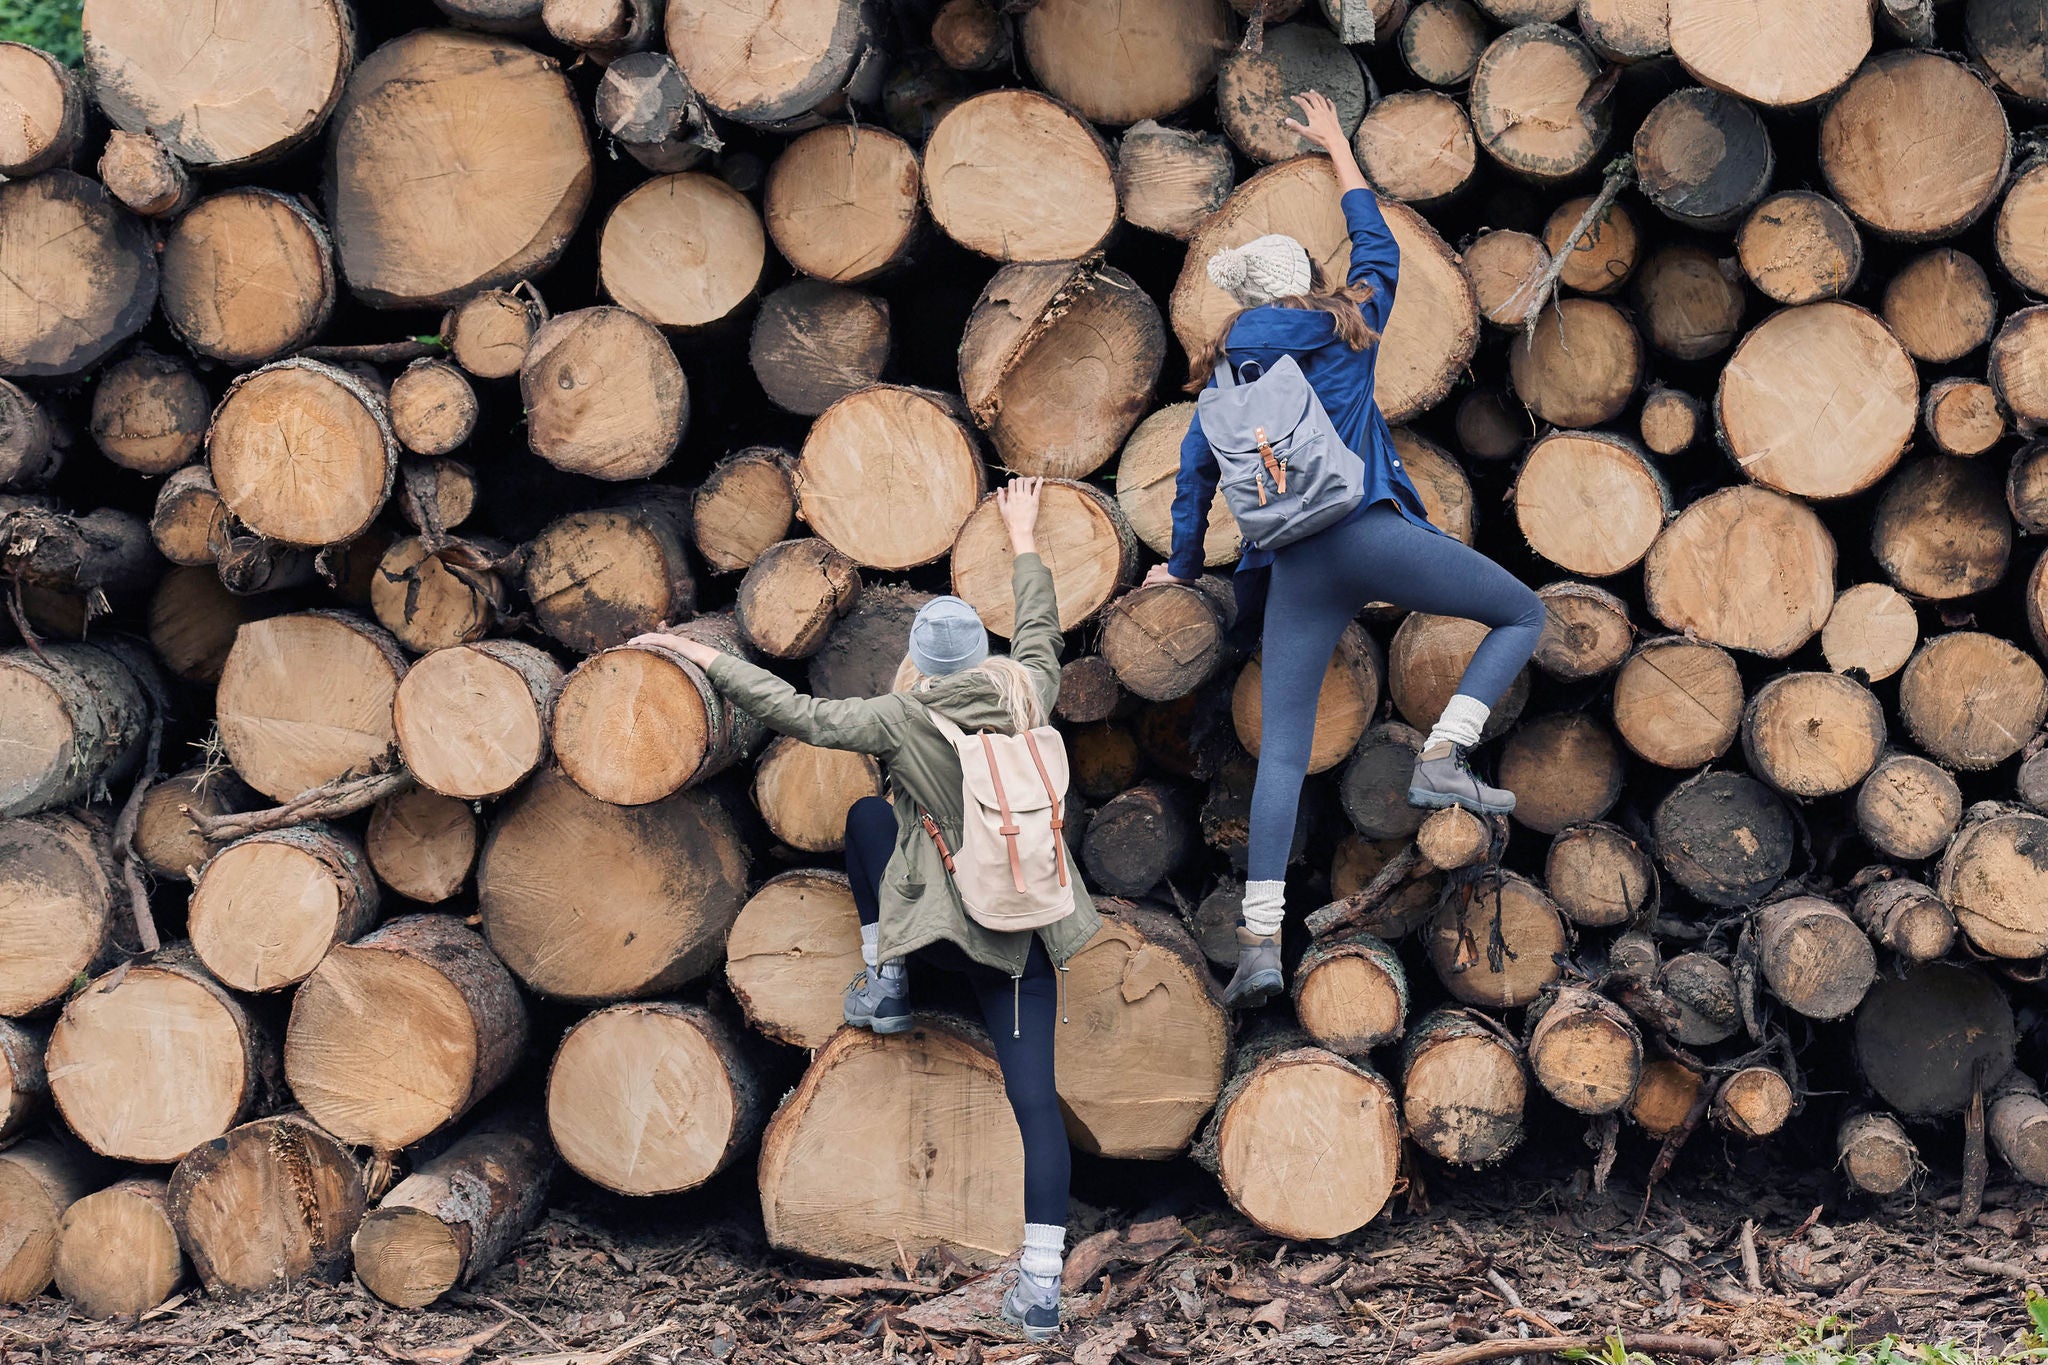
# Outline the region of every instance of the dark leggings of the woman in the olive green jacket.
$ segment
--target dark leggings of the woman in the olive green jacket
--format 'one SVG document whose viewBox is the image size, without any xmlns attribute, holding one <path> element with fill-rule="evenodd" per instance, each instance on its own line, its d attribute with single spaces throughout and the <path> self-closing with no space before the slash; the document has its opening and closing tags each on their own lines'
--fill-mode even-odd
<svg viewBox="0 0 2048 1365">
<path fill-rule="evenodd" d="M 846 878 L 860 923 L 881 921 L 883 868 L 895 851 L 895 806 L 862 796 L 846 812 Z M 1024 1222 L 1063 1226 L 1073 1152 L 1053 1087 L 1053 1029 L 1059 1025 L 1059 984 L 1044 943 L 1032 935 L 1024 978 L 975 968 L 967 972 L 981 1019 L 1004 1068 L 1004 1091 L 1024 1136 Z"/>
</svg>

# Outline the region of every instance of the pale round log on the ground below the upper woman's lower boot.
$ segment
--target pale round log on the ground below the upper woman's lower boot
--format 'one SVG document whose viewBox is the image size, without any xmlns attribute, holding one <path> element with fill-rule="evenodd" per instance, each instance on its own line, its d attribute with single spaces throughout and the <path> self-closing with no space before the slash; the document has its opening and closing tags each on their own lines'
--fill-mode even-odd
<svg viewBox="0 0 2048 1365">
<path fill-rule="evenodd" d="M 1333 1238 L 1372 1222 L 1395 1191 L 1401 1113 L 1370 1066 L 1280 1031 L 1247 1046 L 1194 1158 L 1266 1232 Z"/>
</svg>

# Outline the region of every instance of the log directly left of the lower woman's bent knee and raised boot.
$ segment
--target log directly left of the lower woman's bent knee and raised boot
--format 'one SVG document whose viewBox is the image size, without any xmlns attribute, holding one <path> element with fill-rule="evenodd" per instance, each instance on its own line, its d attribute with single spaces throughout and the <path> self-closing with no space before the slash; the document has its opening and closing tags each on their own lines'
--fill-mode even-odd
<svg viewBox="0 0 2048 1365">
<path fill-rule="evenodd" d="M 860 917 L 844 872 L 780 872 L 741 907 L 725 939 L 725 984 L 758 1033 L 823 1048 L 840 993 L 862 968 Z"/>
</svg>

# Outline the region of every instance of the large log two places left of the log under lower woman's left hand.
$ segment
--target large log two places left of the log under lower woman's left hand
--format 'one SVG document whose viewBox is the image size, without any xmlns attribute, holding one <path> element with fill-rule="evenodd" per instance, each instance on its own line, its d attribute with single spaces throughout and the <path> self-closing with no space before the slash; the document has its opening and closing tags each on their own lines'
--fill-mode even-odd
<svg viewBox="0 0 2048 1365">
<path fill-rule="evenodd" d="M 246 624 L 215 694 L 227 761 L 272 800 L 371 772 L 397 743 L 391 702 L 403 671 L 397 643 L 346 612 Z"/>
</svg>

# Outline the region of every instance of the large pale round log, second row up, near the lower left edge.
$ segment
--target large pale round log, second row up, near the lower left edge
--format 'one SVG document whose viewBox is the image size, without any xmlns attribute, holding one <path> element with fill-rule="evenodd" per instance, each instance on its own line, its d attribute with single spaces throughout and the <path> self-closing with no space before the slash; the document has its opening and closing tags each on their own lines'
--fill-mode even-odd
<svg viewBox="0 0 2048 1365">
<path fill-rule="evenodd" d="M 66 1128 L 115 1160 L 178 1160 L 268 1105 L 276 1087 L 276 1042 L 188 945 L 74 995 L 45 1060 Z"/>
</svg>

